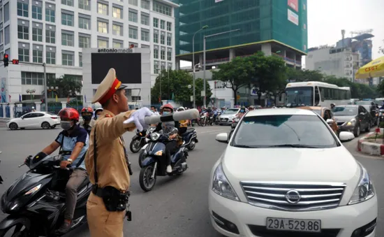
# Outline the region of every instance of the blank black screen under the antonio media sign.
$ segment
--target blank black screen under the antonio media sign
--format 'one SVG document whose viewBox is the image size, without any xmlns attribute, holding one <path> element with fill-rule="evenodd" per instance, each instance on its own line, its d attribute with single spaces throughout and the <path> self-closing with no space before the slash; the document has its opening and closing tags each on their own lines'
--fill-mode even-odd
<svg viewBox="0 0 384 237">
<path fill-rule="evenodd" d="M 91 53 L 91 83 L 100 84 L 110 68 L 123 84 L 141 83 L 140 53 Z"/>
</svg>

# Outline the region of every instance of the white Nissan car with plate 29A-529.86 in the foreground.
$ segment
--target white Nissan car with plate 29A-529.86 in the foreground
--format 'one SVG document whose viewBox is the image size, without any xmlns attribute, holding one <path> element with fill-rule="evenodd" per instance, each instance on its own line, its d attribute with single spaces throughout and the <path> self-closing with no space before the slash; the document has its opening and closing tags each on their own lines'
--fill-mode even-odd
<svg viewBox="0 0 384 237">
<path fill-rule="evenodd" d="M 249 111 L 209 180 L 209 213 L 225 236 L 374 237 L 377 197 L 367 170 L 310 110 Z M 228 134 L 216 140 L 228 143 Z"/>
</svg>

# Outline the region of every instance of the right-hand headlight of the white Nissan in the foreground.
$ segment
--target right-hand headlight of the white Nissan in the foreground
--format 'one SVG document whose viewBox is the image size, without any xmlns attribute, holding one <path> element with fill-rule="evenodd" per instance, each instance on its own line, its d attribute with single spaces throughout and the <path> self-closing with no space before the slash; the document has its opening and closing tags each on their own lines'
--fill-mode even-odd
<svg viewBox="0 0 384 237">
<path fill-rule="evenodd" d="M 353 192 L 348 205 L 361 203 L 375 196 L 374 184 L 369 178 L 367 170 L 361 164 L 359 164 L 359 166 L 361 169 L 360 181 L 355 189 L 355 192 Z"/>
</svg>

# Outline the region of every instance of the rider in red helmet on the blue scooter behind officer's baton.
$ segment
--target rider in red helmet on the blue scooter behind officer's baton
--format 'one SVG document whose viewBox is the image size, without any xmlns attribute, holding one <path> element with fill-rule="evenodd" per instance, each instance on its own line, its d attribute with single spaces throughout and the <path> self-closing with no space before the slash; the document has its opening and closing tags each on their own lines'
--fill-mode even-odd
<svg viewBox="0 0 384 237">
<path fill-rule="evenodd" d="M 168 115 L 173 113 L 173 106 L 170 103 L 167 103 L 161 106 L 160 113 L 162 115 Z M 177 131 L 173 129 L 176 128 Z M 178 131 L 179 131 L 179 122 L 159 122 L 155 131 L 163 130 L 163 134 L 170 134 L 169 141 L 165 142 L 165 157 L 167 159 L 167 173 L 172 173 L 172 166 L 170 165 L 171 155 L 174 154 L 177 150 L 177 142 L 179 141 Z"/>
</svg>

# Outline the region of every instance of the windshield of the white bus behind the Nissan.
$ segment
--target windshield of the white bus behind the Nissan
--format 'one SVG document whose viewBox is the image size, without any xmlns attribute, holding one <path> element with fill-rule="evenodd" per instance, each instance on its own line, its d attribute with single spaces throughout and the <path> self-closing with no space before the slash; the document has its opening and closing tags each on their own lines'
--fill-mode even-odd
<svg viewBox="0 0 384 237">
<path fill-rule="evenodd" d="M 286 88 L 286 106 L 313 106 L 313 87 Z"/>
</svg>

